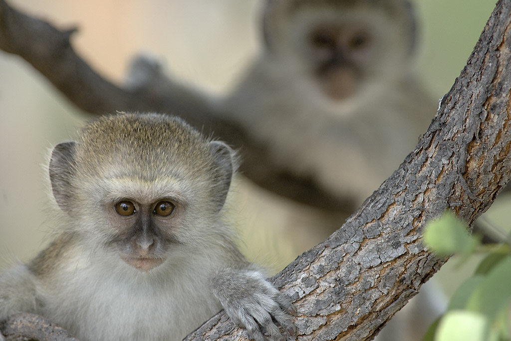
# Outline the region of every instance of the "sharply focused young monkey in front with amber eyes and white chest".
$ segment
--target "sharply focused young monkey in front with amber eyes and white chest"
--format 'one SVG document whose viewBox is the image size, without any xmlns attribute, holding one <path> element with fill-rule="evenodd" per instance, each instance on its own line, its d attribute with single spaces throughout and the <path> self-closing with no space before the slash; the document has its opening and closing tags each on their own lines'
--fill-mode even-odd
<svg viewBox="0 0 511 341">
<path fill-rule="evenodd" d="M 294 335 L 294 306 L 222 221 L 234 164 L 224 143 L 152 113 L 103 117 L 58 144 L 58 235 L 0 276 L 0 321 L 32 312 L 82 341 L 177 341 L 223 307 L 251 338 Z"/>
</svg>

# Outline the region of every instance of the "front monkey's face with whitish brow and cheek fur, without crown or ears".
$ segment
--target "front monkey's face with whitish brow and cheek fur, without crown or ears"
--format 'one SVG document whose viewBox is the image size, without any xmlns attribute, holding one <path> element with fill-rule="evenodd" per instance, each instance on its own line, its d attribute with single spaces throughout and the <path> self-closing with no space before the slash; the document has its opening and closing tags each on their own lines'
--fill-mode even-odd
<svg viewBox="0 0 511 341">
<path fill-rule="evenodd" d="M 103 164 L 101 170 L 91 169 L 101 174 L 96 179 L 79 174 L 83 181 L 72 199 L 78 209 L 70 213 L 91 250 L 104 249 L 137 270 L 149 271 L 182 258 L 204 233 L 195 217 L 214 219 L 218 207 L 205 202 L 208 193 L 194 184 L 194 177 L 168 169 L 153 177 L 154 164 L 145 165 L 146 172 L 136 167 Z"/>
</svg>

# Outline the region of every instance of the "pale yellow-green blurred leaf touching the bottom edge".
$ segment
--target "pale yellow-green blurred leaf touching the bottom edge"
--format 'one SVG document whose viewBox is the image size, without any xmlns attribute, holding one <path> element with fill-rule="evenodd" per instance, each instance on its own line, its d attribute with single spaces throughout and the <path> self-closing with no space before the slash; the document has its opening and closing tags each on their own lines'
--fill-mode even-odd
<svg viewBox="0 0 511 341">
<path fill-rule="evenodd" d="M 490 329 L 484 315 L 453 310 L 440 321 L 435 341 L 497 341 L 498 335 Z"/>
</svg>

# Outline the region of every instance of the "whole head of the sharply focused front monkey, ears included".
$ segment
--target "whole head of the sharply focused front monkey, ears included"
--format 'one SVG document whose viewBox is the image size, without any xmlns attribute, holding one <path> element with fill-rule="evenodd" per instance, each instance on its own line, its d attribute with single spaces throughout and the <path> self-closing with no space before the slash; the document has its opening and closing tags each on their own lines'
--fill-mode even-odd
<svg viewBox="0 0 511 341">
<path fill-rule="evenodd" d="M 87 247 L 148 271 L 215 233 L 207 222 L 227 195 L 230 153 L 175 118 L 106 117 L 55 147 L 52 190 Z"/>
</svg>

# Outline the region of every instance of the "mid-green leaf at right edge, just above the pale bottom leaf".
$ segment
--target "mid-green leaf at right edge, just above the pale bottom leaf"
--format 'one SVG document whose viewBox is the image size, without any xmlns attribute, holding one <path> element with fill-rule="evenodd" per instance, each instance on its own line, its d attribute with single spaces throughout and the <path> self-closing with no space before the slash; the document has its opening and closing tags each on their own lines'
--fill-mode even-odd
<svg viewBox="0 0 511 341">
<path fill-rule="evenodd" d="M 467 302 L 467 309 L 486 315 L 495 321 L 498 314 L 511 302 L 511 256 L 495 265 L 474 290 Z"/>
</svg>

